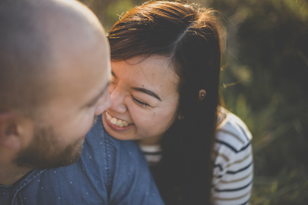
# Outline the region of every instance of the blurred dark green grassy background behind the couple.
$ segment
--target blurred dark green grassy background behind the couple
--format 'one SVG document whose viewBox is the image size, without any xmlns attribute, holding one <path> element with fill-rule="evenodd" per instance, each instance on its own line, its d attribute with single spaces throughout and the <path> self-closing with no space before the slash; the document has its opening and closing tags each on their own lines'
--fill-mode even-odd
<svg viewBox="0 0 308 205">
<path fill-rule="evenodd" d="M 106 31 L 140 0 L 81 0 Z M 225 107 L 253 134 L 251 204 L 308 204 L 308 1 L 196 0 L 227 29 Z"/>
</svg>

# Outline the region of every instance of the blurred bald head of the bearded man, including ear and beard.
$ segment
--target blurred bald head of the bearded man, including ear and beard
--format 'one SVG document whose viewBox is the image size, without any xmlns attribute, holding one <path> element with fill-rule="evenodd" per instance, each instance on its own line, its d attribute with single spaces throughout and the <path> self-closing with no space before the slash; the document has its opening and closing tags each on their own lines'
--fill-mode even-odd
<svg viewBox="0 0 308 205">
<path fill-rule="evenodd" d="M 74 0 L 0 2 L 0 163 L 75 163 L 111 105 L 104 30 Z"/>
</svg>

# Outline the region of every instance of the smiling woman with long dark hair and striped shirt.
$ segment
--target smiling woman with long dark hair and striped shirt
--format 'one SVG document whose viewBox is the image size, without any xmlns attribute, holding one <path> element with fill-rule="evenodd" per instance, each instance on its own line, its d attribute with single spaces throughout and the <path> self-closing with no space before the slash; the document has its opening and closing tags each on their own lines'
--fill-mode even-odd
<svg viewBox="0 0 308 205">
<path fill-rule="evenodd" d="M 221 28 L 213 10 L 151 1 L 108 34 L 112 106 L 103 125 L 139 139 L 166 204 L 249 204 L 251 135 L 218 106 Z"/>
</svg>

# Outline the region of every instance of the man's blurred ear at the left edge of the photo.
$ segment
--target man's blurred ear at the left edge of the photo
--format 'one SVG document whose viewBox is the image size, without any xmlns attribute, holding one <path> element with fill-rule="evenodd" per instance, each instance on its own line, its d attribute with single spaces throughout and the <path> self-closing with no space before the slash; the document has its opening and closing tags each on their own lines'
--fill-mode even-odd
<svg viewBox="0 0 308 205">
<path fill-rule="evenodd" d="M 18 116 L 10 112 L 0 113 L 0 147 L 20 149 L 21 144 Z"/>
</svg>

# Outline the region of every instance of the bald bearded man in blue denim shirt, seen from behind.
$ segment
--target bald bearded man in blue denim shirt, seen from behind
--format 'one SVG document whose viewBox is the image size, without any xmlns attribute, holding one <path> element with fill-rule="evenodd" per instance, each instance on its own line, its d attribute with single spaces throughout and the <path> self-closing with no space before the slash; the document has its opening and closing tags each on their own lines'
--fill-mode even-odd
<svg viewBox="0 0 308 205">
<path fill-rule="evenodd" d="M 103 129 L 109 57 L 82 4 L 0 1 L 0 205 L 163 204 L 136 144 Z"/>
</svg>

